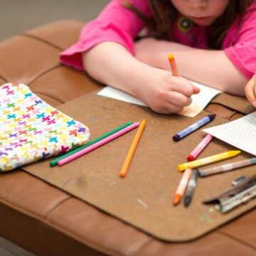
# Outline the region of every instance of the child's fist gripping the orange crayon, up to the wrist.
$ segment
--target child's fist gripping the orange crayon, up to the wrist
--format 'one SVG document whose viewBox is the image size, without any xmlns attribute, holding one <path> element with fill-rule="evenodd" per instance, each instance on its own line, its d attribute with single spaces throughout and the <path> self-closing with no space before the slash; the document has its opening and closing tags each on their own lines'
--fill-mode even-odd
<svg viewBox="0 0 256 256">
<path fill-rule="evenodd" d="M 144 75 L 137 95 L 147 105 L 161 114 L 181 112 L 191 104 L 191 96 L 200 89 L 185 78 L 175 77 L 168 70 L 154 68 Z"/>
</svg>

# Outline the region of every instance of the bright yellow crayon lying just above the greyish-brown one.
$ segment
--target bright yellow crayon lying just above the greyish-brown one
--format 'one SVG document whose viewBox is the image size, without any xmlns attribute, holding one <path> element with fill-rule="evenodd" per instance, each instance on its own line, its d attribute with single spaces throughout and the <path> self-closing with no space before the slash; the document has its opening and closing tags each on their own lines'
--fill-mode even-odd
<svg viewBox="0 0 256 256">
<path fill-rule="evenodd" d="M 240 152 L 241 152 L 240 150 L 231 150 L 231 151 L 227 151 L 227 152 L 224 152 L 224 153 L 221 153 L 221 154 L 208 156 L 208 157 L 205 157 L 203 159 L 198 159 L 196 161 L 191 161 L 191 162 L 188 162 L 188 163 L 179 164 L 178 165 L 178 171 L 184 171 L 188 167 L 197 168 L 199 166 L 203 166 L 203 165 L 206 165 L 206 164 L 215 163 L 216 161 L 221 161 L 221 160 L 228 159 L 230 157 L 236 156 L 236 155 L 240 154 Z"/>
</svg>

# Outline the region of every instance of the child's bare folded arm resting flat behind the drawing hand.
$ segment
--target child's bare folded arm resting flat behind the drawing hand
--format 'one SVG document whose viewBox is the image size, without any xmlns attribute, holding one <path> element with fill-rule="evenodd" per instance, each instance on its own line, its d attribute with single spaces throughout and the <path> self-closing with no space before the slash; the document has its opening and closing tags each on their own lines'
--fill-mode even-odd
<svg viewBox="0 0 256 256">
<path fill-rule="evenodd" d="M 223 50 L 201 50 L 169 41 L 146 38 L 136 44 L 136 58 L 169 70 L 166 56 L 174 53 L 180 75 L 225 92 L 245 95 L 247 79 Z"/>
</svg>

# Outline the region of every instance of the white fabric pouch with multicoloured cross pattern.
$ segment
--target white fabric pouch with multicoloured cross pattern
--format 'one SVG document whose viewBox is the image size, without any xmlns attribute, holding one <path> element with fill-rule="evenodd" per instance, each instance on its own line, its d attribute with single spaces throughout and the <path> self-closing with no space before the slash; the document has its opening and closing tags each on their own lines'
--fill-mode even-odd
<svg viewBox="0 0 256 256">
<path fill-rule="evenodd" d="M 27 85 L 1 85 L 0 171 L 63 154 L 89 139 L 87 126 L 48 105 Z"/>
</svg>

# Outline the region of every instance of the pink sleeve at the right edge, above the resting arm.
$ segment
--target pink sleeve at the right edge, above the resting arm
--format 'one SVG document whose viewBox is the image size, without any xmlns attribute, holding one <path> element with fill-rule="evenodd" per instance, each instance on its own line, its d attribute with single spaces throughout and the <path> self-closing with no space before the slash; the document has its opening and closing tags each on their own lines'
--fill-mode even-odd
<svg viewBox="0 0 256 256">
<path fill-rule="evenodd" d="M 224 51 L 246 78 L 256 73 L 256 4 L 252 4 L 242 20 L 228 31 Z M 229 45 L 225 48 L 225 44 Z"/>
</svg>

